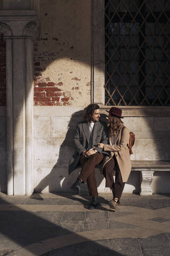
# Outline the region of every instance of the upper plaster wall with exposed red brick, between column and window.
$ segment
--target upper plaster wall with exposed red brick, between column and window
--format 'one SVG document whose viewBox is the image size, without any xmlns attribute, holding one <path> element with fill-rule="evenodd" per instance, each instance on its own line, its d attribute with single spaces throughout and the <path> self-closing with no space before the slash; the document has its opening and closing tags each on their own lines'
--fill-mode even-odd
<svg viewBox="0 0 170 256">
<path fill-rule="evenodd" d="M 40 1 L 35 42 L 35 106 L 90 103 L 90 0 Z"/>
</svg>

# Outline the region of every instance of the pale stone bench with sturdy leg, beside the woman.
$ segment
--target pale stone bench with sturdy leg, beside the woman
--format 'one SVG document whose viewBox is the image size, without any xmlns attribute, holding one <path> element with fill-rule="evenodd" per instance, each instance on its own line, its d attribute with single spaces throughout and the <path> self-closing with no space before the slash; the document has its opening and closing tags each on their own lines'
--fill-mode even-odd
<svg viewBox="0 0 170 256">
<path fill-rule="evenodd" d="M 132 171 L 140 171 L 141 175 L 141 196 L 152 195 L 151 183 L 155 171 L 170 171 L 170 161 L 146 161 L 133 160 Z"/>
</svg>

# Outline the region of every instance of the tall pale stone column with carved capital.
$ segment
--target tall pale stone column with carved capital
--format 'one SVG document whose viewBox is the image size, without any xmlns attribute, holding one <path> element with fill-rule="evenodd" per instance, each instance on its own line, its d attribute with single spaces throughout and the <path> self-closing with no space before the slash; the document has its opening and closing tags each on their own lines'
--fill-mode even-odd
<svg viewBox="0 0 170 256">
<path fill-rule="evenodd" d="M 0 11 L 6 40 L 8 195 L 33 190 L 33 38 L 38 28 L 35 11 Z"/>
</svg>

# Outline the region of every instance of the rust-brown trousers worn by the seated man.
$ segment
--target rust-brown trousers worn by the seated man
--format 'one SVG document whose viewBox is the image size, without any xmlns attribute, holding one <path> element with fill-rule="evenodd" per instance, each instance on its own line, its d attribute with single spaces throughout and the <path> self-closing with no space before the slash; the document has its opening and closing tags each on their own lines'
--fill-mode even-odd
<svg viewBox="0 0 170 256">
<path fill-rule="evenodd" d="M 83 182 L 87 181 L 90 196 L 98 196 L 95 166 L 101 162 L 103 157 L 103 154 L 96 153 L 88 158 L 85 156 L 80 158 L 82 169 L 78 178 Z"/>
</svg>

